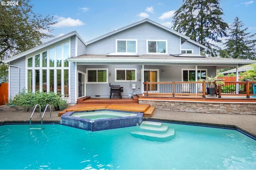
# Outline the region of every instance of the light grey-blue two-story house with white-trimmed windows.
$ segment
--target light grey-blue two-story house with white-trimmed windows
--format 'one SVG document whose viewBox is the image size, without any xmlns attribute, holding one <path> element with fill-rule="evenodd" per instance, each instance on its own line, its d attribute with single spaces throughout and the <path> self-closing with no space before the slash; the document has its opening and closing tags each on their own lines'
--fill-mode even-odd
<svg viewBox="0 0 256 170">
<path fill-rule="evenodd" d="M 122 96 L 128 98 L 144 92 L 143 82 L 197 81 L 215 76 L 218 68 L 255 63 L 204 57 L 204 49 L 149 19 L 88 42 L 73 31 L 4 61 L 9 65 L 9 96 L 25 88 L 60 93 L 76 103 L 84 96 L 109 98 L 111 84 L 123 86 Z M 159 89 L 150 85 L 148 90 Z"/>
</svg>

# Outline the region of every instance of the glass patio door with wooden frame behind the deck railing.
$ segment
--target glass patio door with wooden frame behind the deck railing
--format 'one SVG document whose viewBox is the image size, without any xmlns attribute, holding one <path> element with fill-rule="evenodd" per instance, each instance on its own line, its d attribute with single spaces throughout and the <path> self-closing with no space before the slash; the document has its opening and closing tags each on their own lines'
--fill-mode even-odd
<svg viewBox="0 0 256 170">
<path fill-rule="evenodd" d="M 144 82 L 158 82 L 158 70 L 144 70 Z M 144 91 L 146 91 L 146 84 L 144 84 Z M 158 92 L 157 84 L 148 84 L 149 92 Z"/>
</svg>

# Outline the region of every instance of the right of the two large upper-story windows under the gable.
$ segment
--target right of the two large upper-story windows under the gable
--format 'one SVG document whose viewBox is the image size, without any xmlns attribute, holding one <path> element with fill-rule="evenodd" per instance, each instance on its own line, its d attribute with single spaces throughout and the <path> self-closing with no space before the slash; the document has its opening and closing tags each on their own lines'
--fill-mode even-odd
<svg viewBox="0 0 256 170">
<path fill-rule="evenodd" d="M 167 54 L 167 40 L 147 40 L 147 54 Z"/>
</svg>

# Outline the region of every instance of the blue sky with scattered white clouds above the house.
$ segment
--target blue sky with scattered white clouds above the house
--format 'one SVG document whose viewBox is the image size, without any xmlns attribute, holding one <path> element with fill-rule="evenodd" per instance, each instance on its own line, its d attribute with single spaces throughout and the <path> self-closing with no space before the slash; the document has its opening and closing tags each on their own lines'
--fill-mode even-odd
<svg viewBox="0 0 256 170">
<path fill-rule="evenodd" d="M 54 16 L 58 23 L 52 25 L 51 34 L 55 37 L 76 30 L 89 41 L 144 18 L 171 27 L 182 0 L 32 0 L 31 4 L 35 13 Z M 256 1 L 220 0 L 220 7 L 226 23 L 238 16 L 249 27 L 247 32 L 256 33 Z"/>
</svg>

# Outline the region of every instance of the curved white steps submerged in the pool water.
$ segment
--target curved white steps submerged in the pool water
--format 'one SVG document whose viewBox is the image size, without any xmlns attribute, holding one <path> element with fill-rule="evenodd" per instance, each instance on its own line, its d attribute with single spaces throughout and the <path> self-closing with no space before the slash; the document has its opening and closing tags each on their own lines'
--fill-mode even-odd
<svg viewBox="0 0 256 170">
<path fill-rule="evenodd" d="M 169 141 L 174 138 L 174 129 L 162 125 L 160 122 L 142 121 L 138 131 L 131 132 L 131 135 L 150 141 Z"/>
</svg>

